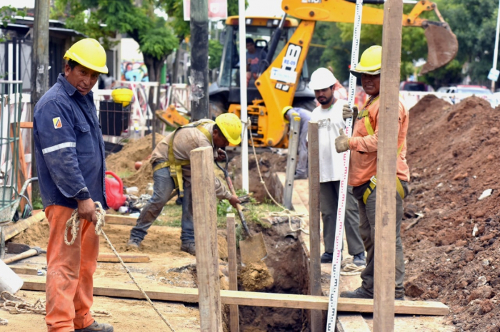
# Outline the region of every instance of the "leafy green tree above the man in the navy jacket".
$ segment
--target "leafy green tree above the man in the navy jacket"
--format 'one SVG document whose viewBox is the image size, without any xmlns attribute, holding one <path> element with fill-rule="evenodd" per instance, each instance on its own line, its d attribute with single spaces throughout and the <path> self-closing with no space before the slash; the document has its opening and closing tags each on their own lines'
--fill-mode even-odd
<svg viewBox="0 0 500 332">
<path fill-rule="evenodd" d="M 103 41 L 104 47 L 116 32 L 127 33 L 137 43 L 144 57 L 150 81 L 160 81 L 159 74 L 166 57 L 176 48 L 174 30 L 154 9 L 161 0 L 56 0 L 52 16 L 65 19 L 74 28 L 91 38 Z"/>
</svg>

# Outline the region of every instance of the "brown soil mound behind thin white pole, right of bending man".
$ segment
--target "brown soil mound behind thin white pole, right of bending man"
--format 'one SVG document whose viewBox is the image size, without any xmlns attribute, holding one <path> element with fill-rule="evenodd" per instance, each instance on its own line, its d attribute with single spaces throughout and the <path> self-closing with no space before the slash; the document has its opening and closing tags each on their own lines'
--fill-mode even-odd
<svg viewBox="0 0 500 332">
<path fill-rule="evenodd" d="M 274 152 L 264 152 L 257 155 L 259 160 L 259 167 L 261 170 L 262 178 L 266 185 L 269 187 L 271 185 L 271 176 L 275 172 L 285 172 L 286 171 L 286 155 L 279 155 Z M 241 155 L 234 157 L 231 162 L 229 162 L 228 167 L 229 172 L 231 172 L 233 177 L 234 187 L 240 189 L 241 186 Z M 259 177 L 259 171 L 257 170 L 257 163 L 255 157 L 251 150 L 249 150 L 249 192 L 253 192 L 253 197 L 258 202 L 263 202 L 264 198 L 267 197 L 266 190 L 261 184 Z M 268 197 L 269 198 L 269 197 Z"/>
</svg>

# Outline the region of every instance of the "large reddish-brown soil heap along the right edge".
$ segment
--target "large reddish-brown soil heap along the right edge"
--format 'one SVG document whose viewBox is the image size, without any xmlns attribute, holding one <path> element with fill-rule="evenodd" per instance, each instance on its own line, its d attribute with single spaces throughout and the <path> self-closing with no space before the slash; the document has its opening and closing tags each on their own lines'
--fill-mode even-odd
<svg viewBox="0 0 500 332">
<path fill-rule="evenodd" d="M 406 296 L 442 301 L 460 331 L 500 331 L 499 111 L 475 96 L 451 105 L 434 95 L 410 110 L 405 204 L 424 217 L 401 227 Z"/>
</svg>

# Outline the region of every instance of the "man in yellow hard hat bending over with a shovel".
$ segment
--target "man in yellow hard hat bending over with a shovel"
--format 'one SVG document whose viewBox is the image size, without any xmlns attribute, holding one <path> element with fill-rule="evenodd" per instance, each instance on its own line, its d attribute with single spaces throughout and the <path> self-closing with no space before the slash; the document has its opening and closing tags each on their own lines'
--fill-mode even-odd
<svg viewBox="0 0 500 332">
<path fill-rule="evenodd" d="M 191 150 L 197 147 L 213 147 L 214 159 L 224 160 L 224 151 L 221 148 L 229 143 L 238 145 L 241 142 L 241 120 L 234 114 L 219 115 L 215 122 L 202 119 L 189 125 L 184 125 L 166 136 L 156 145 L 151 155 L 153 165 L 153 196 L 142 209 L 136 226 L 131 229 L 128 247 L 139 248 L 142 240 L 148 234 L 151 224 L 161 213 L 176 187 L 179 188 L 182 199 L 181 217 L 181 250 L 194 255 L 194 222 L 193 202 L 191 198 L 191 166 L 189 157 Z M 215 193 L 219 199 L 228 199 L 233 207 L 240 203 L 224 187 L 221 181 L 215 178 Z"/>
</svg>

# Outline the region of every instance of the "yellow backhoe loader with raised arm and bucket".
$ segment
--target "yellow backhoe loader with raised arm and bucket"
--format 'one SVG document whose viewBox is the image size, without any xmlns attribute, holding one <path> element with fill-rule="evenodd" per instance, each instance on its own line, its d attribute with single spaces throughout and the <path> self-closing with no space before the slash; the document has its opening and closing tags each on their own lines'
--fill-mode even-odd
<svg viewBox="0 0 500 332">
<path fill-rule="evenodd" d="M 247 88 L 251 135 L 259 147 L 286 147 L 287 125 L 281 110 L 287 105 L 314 109 L 314 92 L 306 79 L 306 56 L 316 21 L 353 22 L 355 0 L 283 0 L 281 8 L 286 15 L 301 19 L 276 17 L 246 17 L 246 36 L 252 37 L 257 50 L 266 51 L 259 63 L 260 76 Z M 364 4 L 383 4 L 383 0 L 365 0 Z M 424 11 L 434 11 L 439 21 L 419 18 Z M 362 24 L 384 21 L 383 9 L 364 6 Z M 238 16 L 226 19 L 221 35 L 224 43 L 219 78 L 209 88 L 211 115 L 230 112 L 240 114 Z M 427 63 L 421 73 L 446 65 L 458 51 L 458 41 L 439 13 L 436 4 L 421 0 L 411 13 L 402 17 L 403 26 L 425 28 L 428 44 Z M 244 66 L 242 67 L 244 68 Z M 245 73 L 243 74 L 245 75 Z"/>
</svg>

